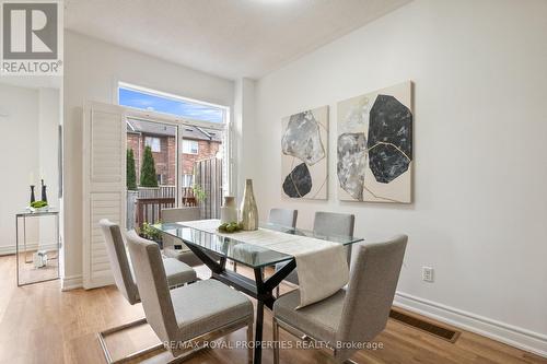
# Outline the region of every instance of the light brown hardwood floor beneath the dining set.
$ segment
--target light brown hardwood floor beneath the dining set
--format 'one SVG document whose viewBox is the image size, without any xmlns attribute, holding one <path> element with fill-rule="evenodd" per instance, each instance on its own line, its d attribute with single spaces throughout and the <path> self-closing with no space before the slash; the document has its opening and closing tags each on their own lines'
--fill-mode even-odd
<svg viewBox="0 0 547 364">
<path fill-rule="evenodd" d="M 238 268 L 238 271 L 241 269 Z M 200 270 L 200 274 L 206 274 Z M 25 287 L 15 283 L 14 256 L 0 257 L 0 363 L 104 363 L 96 333 L 143 317 L 141 305 L 130 306 L 115 286 L 92 291 L 60 291 L 60 282 Z M 288 290 L 288 287 L 282 287 Z M 244 340 L 244 329 L 223 341 Z M 265 340 L 271 339 L 271 315 L 265 315 Z M 294 340 L 281 331 L 281 340 Z M 158 339 L 148 326 L 110 337 L 109 347 L 119 357 L 154 344 Z M 523 352 L 490 339 L 463 331 L 455 343 L 389 320 L 375 342 L 384 349 L 361 351 L 358 363 L 544 363 L 547 359 Z M 293 341 L 295 343 L 295 341 Z M 187 361 L 198 363 L 244 363 L 244 349 L 208 349 Z M 148 362 L 161 363 L 165 354 Z M 271 350 L 265 349 L 263 363 L 272 362 Z M 282 350 L 281 363 L 329 363 L 327 355 L 315 350 Z"/>
</svg>

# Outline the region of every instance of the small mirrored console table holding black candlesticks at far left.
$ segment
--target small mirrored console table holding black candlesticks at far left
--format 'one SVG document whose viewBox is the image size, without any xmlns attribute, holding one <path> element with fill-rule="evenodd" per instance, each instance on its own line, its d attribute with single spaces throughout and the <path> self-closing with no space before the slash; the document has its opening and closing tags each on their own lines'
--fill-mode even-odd
<svg viewBox="0 0 547 364">
<path fill-rule="evenodd" d="M 37 223 L 40 228 L 37 235 L 37 242 L 33 242 L 32 244 L 27 242 L 27 222 L 31 219 L 38 220 Z M 47 222 L 48 220 L 49 222 Z M 45 232 L 42 231 L 43 228 L 54 230 L 53 242 L 40 242 L 39 237 L 46 235 Z M 43 211 L 24 210 L 15 214 L 18 286 L 59 279 L 59 253 L 58 210 L 53 208 Z"/>
</svg>

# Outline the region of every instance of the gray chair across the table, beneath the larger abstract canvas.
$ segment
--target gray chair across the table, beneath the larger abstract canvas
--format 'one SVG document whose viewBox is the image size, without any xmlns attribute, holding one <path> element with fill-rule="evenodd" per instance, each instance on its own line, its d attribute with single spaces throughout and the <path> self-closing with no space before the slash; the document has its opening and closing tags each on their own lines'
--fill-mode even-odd
<svg viewBox="0 0 547 364">
<path fill-rule="evenodd" d="M 356 215 L 348 213 L 336 213 L 336 212 L 315 212 L 315 218 L 313 221 L 313 232 L 316 235 L 324 236 L 353 236 L 353 230 L 356 225 Z M 348 255 L 348 266 L 351 263 L 351 245 L 346 247 Z M 287 262 L 281 262 L 276 265 L 276 272 L 284 267 Z M 292 272 L 284 279 L 286 282 L 292 284 L 299 284 L 298 268 L 294 268 Z M 279 296 L 279 285 L 276 287 L 277 296 Z"/>
</svg>

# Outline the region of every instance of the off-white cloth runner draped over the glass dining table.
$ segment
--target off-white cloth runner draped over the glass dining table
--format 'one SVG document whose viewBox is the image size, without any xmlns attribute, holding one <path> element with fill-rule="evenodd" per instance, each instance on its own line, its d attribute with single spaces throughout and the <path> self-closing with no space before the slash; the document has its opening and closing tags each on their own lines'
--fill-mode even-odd
<svg viewBox="0 0 547 364">
<path fill-rule="evenodd" d="M 296 308 L 322 301 L 348 283 L 349 269 L 342 244 L 261 227 L 225 234 L 217 230 L 219 220 L 185 221 L 178 224 L 293 256 L 300 285 L 300 306 Z"/>
</svg>

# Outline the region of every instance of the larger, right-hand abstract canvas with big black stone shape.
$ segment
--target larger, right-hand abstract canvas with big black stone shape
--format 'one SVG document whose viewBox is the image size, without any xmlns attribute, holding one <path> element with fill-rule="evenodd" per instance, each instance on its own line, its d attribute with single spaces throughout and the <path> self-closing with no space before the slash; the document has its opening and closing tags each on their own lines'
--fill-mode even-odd
<svg viewBox="0 0 547 364">
<path fill-rule="evenodd" d="M 412 202 L 411 82 L 338 103 L 342 201 Z"/>
</svg>

